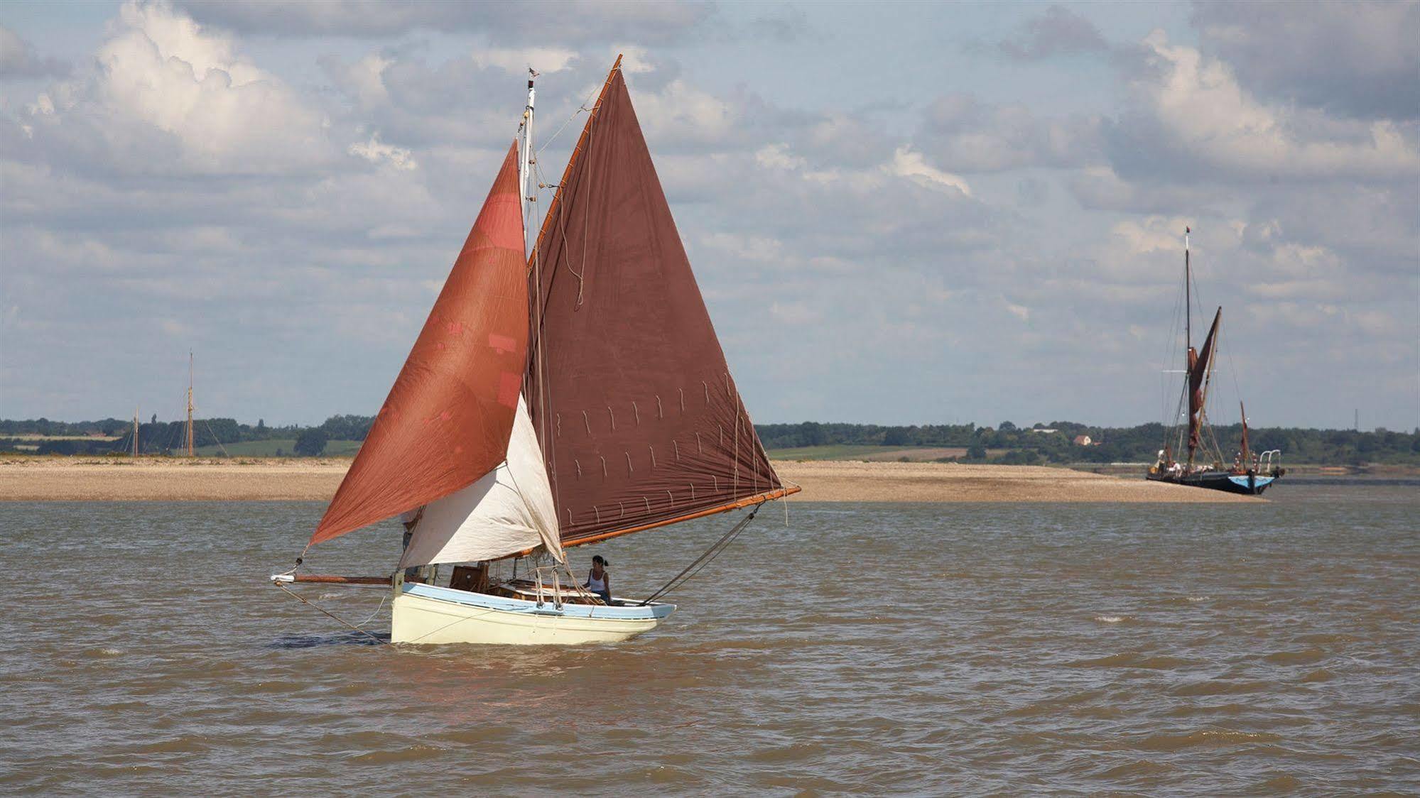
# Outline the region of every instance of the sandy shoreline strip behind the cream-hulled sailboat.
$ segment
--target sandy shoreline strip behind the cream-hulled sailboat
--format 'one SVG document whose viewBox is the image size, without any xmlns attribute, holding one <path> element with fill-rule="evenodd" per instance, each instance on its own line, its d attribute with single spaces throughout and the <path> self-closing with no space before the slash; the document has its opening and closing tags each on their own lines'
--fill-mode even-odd
<svg viewBox="0 0 1420 798">
<path fill-rule="evenodd" d="M 327 501 L 348 459 L 0 457 L 0 501 Z M 778 461 L 801 501 L 1261 501 L 1039 466 Z"/>
</svg>

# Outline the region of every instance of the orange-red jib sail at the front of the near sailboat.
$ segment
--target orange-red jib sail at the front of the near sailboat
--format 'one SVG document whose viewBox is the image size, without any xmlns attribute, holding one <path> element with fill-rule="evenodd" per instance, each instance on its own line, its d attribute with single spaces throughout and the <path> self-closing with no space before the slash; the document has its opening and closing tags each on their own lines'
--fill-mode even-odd
<svg viewBox="0 0 1420 798">
<path fill-rule="evenodd" d="M 517 145 L 311 544 L 473 484 L 503 461 L 527 362 Z"/>
</svg>

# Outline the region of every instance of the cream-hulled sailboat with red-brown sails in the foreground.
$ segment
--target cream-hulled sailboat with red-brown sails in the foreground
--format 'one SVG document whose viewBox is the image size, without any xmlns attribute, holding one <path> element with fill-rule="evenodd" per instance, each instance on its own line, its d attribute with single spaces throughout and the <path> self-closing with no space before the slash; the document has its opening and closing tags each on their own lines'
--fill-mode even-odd
<svg viewBox="0 0 1420 798">
<path fill-rule="evenodd" d="M 399 517 L 395 643 L 592 643 L 655 629 L 656 601 L 767 501 L 770 464 L 696 285 L 621 57 L 528 247 L 535 72 L 477 222 L 310 547 Z M 589 592 L 567 550 L 744 515 L 642 601 Z M 440 565 L 450 565 L 440 582 Z M 302 599 L 304 601 L 304 599 Z"/>
</svg>

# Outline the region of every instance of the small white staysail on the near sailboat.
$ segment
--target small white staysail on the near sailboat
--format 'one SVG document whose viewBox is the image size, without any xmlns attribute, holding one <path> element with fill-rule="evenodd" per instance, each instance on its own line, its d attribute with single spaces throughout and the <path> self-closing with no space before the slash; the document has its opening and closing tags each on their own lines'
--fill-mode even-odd
<svg viewBox="0 0 1420 798">
<path fill-rule="evenodd" d="M 429 503 L 399 567 L 497 559 L 538 545 L 565 559 L 542 450 L 520 396 L 507 460 L 471 486 Z"/>
</svg>

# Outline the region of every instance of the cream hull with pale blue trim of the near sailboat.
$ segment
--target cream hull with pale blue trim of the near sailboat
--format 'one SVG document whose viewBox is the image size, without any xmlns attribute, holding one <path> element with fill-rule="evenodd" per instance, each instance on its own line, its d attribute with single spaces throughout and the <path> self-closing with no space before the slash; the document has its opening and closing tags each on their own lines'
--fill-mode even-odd
<svg viewBox="0 0 1420 798">
<path fill-rule="evenodd" d="M 655 629 L 676 609 L 537 602 L 406 582 L 392 602 L 392 643 L 514 646 L 613 643 Z"/>
</svg>

